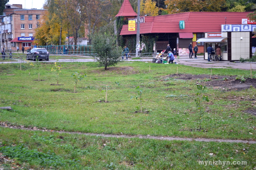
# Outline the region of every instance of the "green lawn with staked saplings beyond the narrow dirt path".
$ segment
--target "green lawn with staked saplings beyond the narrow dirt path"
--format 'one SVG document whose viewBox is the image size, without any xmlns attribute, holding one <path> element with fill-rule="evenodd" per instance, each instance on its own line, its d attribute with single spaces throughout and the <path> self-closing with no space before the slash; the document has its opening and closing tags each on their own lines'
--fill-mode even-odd
<svg viewBox="0 0 256 170">
<path fill-rule="evenodd" d="M 57 84 L 54 63 L 40 63 L 40 79 L 29 63 L 0 65 L 0 121 L 15 125 L 65 131 L 127 135 L 255 139 L 255 116 L 244 113 L 255 109 L 251 99 L 256 90 L 224 91 L 208 87 L 204 95 L 202 128 L 198 129 L 196 109 L 198 80 L 167 78 L 176 65 L 121 63 L 118 69 L 103 70 L 96 62 L 62 63 Z M 151 72 L 149 73 L 149 64 Z M 74 72 L 86 74 L 74 93 Z M 179 73 L 210 74 L 210 69 L 178 66 Z M 30 73 L 30 76 L 29 76 Z M 248 70 L 212 69 L 214 75 L 249 75 Z M 255 74 L 255 71 L 253 71 Z M 118 86 L 115 81 L 120 83 Z M 108 103 L 105 89 L 108 85 Z M 143 89 L 140 113 L 135 88 Z M 173 95 L 173 96 L 172 96 Z M 170 97 L 172 96 L 172 97 Z M 248 100 L 230 100 L 236 96 Z M 252 133 L 253 135 L 251 135 Z"/>
</svg>

